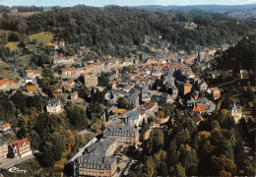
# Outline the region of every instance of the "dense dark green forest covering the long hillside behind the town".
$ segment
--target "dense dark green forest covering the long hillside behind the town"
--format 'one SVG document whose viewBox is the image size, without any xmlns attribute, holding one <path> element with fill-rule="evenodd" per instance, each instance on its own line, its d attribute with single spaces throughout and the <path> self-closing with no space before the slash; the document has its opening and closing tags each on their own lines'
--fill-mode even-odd
<svg viewBox="0 0 256 177">
<path fill-rule="evenodd" d="M 193 22 L 196 27 L 185 28 L 187 22 Z M 52 31 L 67 43 L 92 47 L 99 55 L 119 56 L 126 56 L 134 47 L 143 50 L 143 44 L 149 41 L 167 41 L 170 47 L 187 51 L 196 46 L 233 44 L 253 29 L 253 24 L 237 23 L 217 13 L 145 11 L 118 6 L 101 9 L 76 6 L 34 14 L 26 19 L 3 14 L 0 26 L 27 35 Z"/>
</svg>

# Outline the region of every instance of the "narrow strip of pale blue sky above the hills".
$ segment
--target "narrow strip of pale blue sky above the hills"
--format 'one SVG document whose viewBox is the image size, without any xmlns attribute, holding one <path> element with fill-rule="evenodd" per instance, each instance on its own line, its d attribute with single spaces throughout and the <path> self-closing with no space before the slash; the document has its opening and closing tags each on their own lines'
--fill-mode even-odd
<svg viewBox="0 0 256 177">
<path fill-rule="evenodd" d="M 140 5 L 241 5 L 255 4 L 256 0 L 0 0 L 5 6 L 75 6 L 78 4 L 103 7 L 106 5 L 140 6 Z"/>
</svg>

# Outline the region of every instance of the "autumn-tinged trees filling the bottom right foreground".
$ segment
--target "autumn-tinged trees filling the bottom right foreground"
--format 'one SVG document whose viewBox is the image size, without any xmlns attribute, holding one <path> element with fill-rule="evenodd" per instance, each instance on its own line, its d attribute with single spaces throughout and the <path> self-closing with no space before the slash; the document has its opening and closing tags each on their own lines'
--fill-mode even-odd
<svg viewBox="0 0 256 177">
<path fill-rule="evenodd" d="M 169 119 L 144 141 L 140 165 L 130 176 L 255 175 L 253 157 L 244 153 L 238 126 L 228 110 L 207 116 L 199 127 L 179 110 L 172 111 L 171 117 L 174 121 Z M 252 130 L 255 133 L 248 128 L 248 132 Z"/>
</svg>

